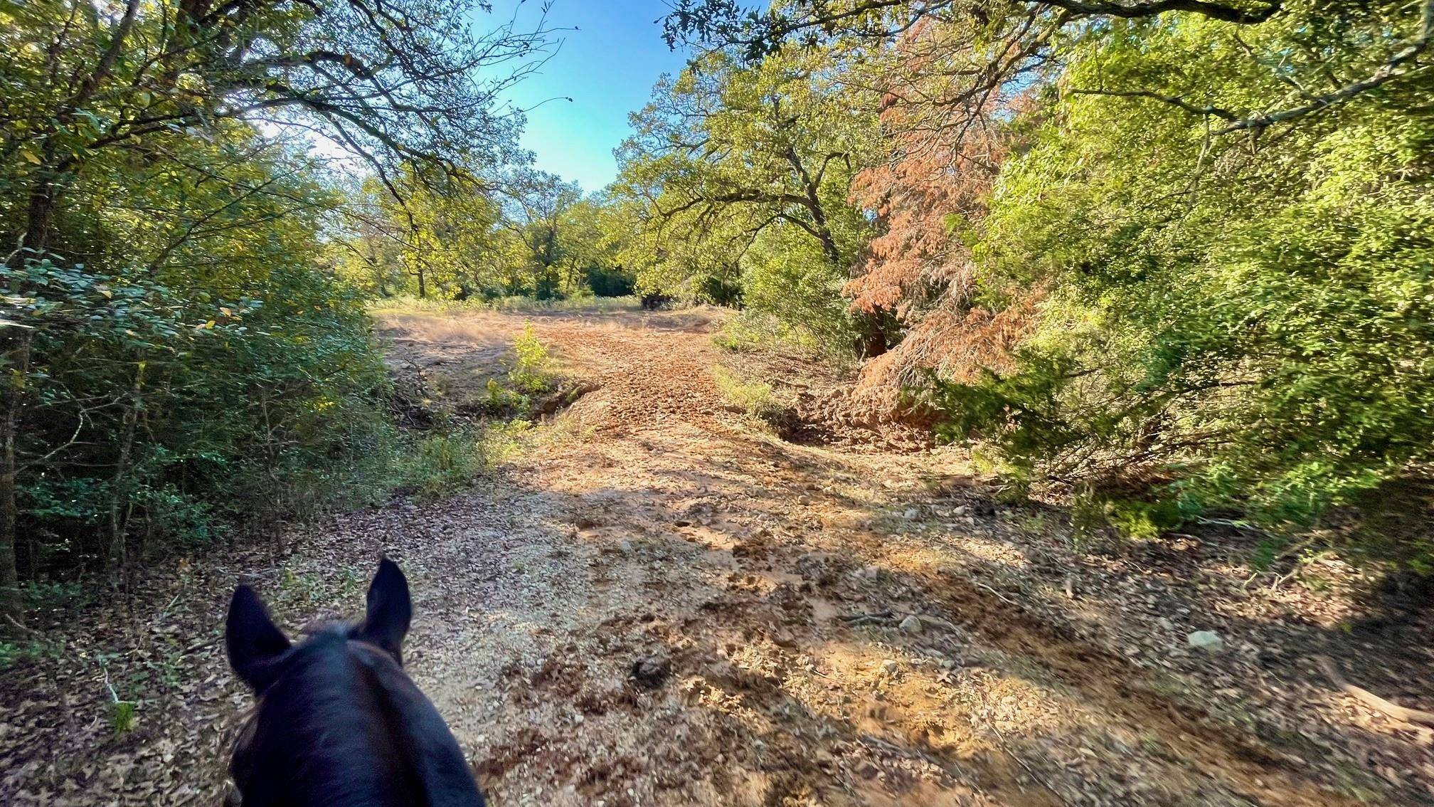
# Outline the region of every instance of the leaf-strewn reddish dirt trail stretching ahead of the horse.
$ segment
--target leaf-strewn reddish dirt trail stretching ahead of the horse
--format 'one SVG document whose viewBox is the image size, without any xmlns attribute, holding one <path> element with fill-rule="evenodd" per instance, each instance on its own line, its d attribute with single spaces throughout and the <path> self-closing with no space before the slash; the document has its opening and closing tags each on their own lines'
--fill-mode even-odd
<svg viewBox="0 0 1434 807">
<path fill-rule="evenodd" d="M 495 804 L 1424 798 L 1412 778 L 1338 781 L 1318 742 L 1200 708 L 1140 652 L 1103 640 L 1097 616 L 1080 613 L 1098 605 L 1061 593 L 1071 561 L 1012 540 L 1020 514 L 956 452 L 792 445 L 724 409 L 700 313 L 529 319 L 565 370 L 595 385 L 531 452 L 463 495 L 340 516 L 258 576 L 293 626 L 356 609 L 374 554 L 396 557 L 416 600 L 407 666 Z M 457 395 L 480 388 L 523 322 L 394 314 L 383 326 L 397 368 Z M 202 625 L 234 570 L 255 566 L 252 554 L 186 566 L 151 599 L 178 587 L 174 602 Z M 155 623 L 146 613 L 139 622 Z M 149 628 L 132 633 L 153 645 Z M 77 698 L 57 692 L 66 673 L 33 672 L 53 701 L 0 727 L 0 761 L 22 765 L 0 774 L 0 797 L 217 794 L 245 696 L 215 648 L 188 643 L 172 642 L 174 666 L 198 684 L 155 698 L 129 738 L 73 714 Z M 1309 696 L 1326 722 L 1344 708 L 1318 688 Z M 47 719 L 79 738 L 72 750 L 90 748 L 86 760 L 17 750 Z M 126 754 L 133 770 L 116 773 Z"/>
</svg>

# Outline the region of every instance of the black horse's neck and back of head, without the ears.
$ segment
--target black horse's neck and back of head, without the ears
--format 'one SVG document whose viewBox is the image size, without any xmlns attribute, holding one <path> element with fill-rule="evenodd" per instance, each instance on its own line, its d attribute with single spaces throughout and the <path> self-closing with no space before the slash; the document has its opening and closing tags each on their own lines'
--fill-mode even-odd
<svg viewBox="0 0 1434 807">
<path fill-rule="evenodd" d="M 244 807 L 482 807 L 457 741 L 389 653 L 341 630 L 291 653 L 235 748 Z"/>
</svg>

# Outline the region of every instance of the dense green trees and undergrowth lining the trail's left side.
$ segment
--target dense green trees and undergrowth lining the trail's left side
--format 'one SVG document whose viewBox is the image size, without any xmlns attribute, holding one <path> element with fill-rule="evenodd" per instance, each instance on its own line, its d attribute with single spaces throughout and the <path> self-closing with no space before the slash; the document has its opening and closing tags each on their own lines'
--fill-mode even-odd
<svg viewBox="0 0 1434 807">
<path fill-rule="evenodd" d="M 331 267 L 363 211 L 301 135 L 393 200 L 521 162 L 496 99 L 545 33 L 479 6 L 0 3 L 7 628 L 20 580 L 361 495 L 386 376 Z"/>
</svg>

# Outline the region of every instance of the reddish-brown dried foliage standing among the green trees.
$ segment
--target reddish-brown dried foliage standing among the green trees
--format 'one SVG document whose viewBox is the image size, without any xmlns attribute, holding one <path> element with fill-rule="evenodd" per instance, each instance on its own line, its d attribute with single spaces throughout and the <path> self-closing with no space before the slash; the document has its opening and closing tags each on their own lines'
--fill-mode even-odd
<svg viewBox="0 0 1434 807">
<path fill-rule="evenodd" d="M 961 235 L 984 217 L 1011 151 L 1001 121 L 1025 101 L 998 89 L 972 96 L 951 65 L 955 36 L 932 24 L 903 39 L 903 70 L 882 88 L 889 159 L 852 184 L 852 200 L 876 215 L 880 234 L 845 291 L 853 310 L 891 310 L 906 329 L 901 345 L 862 368 L 855 389 L 853 404 L 880 418 L 912 415 L 898 411 L 899 392 L 922 370 L 969 379 L 1005 368 L 1041 297 L 1004 290 L 998 309 L 975 299 L 975 263 Z"/>
</svg>

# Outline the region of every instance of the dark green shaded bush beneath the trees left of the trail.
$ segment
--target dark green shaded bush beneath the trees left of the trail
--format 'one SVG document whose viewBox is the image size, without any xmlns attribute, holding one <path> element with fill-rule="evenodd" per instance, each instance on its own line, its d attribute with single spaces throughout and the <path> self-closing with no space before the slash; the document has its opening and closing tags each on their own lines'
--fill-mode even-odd
<svg viewBox="0 0 1434 807">
<path fill-rule="evenodd" d="M 11 370 L 24 574 L 271 526 L 379 472 L 387 378 L 357 303 L 287 267 L 248 291 L 53 258 L 0 269 L 27 335 Z"/>
</svg>

